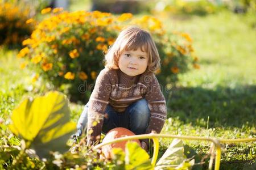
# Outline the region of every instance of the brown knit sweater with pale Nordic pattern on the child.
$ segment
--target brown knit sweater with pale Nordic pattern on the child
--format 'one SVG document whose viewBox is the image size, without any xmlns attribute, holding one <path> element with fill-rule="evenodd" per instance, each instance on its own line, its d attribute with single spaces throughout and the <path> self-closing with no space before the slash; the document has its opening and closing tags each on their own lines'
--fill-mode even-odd
<svg viewBox="0 0 256 170">
<path fill-rule="evenodd" d="M 129 76 L 121 70 L 105 68 L 101 70 L 89 99 L 87 145 L 100 139 L 105 109 L 110 104 L 117 112 L 139 99 L 148 101 L 150 122 L 146 134 L 152 130 L 160 133 L 166 120 L 166 100 L 160 90 L 155 74 L 145 71 L 137 76 Z"/>
</svg>

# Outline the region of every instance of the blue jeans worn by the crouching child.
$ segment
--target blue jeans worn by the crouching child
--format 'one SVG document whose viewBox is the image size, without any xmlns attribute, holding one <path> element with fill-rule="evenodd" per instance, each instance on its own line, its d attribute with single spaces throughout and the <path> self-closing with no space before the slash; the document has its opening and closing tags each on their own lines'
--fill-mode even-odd
<svg viewBox="0 0 256 170">
<path fill-rule="evenodd" d="M 150 121 L 150 109 L 147 100 L 141 99 L 130 104 L 124 112 L 116 112 L 108 104 L 104 117 L 102 132 L 108 133 L 109 130 L 122 127 L 133 131 L 134 134 L 144 134 Z M 77 136 L 86 130 L 88 122 L 88 104 L 85 105 L 84 111 L 77 122 Z"/>
</svg>

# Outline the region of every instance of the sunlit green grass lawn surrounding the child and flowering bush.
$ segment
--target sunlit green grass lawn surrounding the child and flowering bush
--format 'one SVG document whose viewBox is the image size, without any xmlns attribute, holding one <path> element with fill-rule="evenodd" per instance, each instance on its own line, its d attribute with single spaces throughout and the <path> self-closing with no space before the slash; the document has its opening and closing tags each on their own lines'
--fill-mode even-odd
<svg viewBox="0 0 256 170">
<path fill-rule="evenodd" d="M 243 16 L 229 12 L 189 19 L 166 18 L 167 29 L 188 32 L 200 58 L 200 70 L 179 76 L 168 100 L 168 120 L 162 133 L 218 138 L 256 136 L 256 34 Z M 0 116 L 8 121 L 24 96 L 41 94 L 51 86 L 33 83 L 33 71 L 20 70 L 15 50 L 0 49 Z M 70 105 L 77 121 L 82 104 Z M 162 139 L 161 153 L 171 143 Z M 209 150 L 209 143 L 184 141 L 185 154 L 196 155 L 196 163 Z M 222 146 L 221 169 L 253 169 L 255 143 Z M 209 158 L 203 162 L 208 163 Z M 207 164 L 194 169 L 206 169 Z"/>
</svg>

